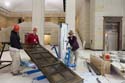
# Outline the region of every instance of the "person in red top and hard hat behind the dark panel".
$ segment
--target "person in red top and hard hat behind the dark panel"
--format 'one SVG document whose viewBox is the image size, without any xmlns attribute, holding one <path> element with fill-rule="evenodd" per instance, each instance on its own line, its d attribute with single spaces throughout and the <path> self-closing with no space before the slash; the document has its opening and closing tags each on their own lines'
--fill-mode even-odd
<svg viewBox="0 0 125 83">
<path fill-rule="evenodd" d="M 30 33 L 27 37 L 27 40 L 26 40 L 27 44 L 39 44 L 39 38 L 36 33 L 37 33 L 37 28 L 34 27 L 33 33 Z"/>
</svg>

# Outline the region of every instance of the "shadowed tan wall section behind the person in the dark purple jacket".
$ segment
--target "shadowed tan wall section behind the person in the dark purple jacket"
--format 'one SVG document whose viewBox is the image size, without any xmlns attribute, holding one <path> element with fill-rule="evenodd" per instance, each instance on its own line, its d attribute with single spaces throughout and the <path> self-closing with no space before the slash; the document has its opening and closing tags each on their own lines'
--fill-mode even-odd
<svg viewBox="0 0 125 83">
<path fill-rule="evenodd" d="M 82 41 L 86 41 L 86 48 L 90 47 L 90 20 L 89 20 L 89 0 L 82 0 L 82 6 L 80 6 L 80 10 L 78 11 L 77 20 L 78 20 L 78 31 Z"/>
</svg>

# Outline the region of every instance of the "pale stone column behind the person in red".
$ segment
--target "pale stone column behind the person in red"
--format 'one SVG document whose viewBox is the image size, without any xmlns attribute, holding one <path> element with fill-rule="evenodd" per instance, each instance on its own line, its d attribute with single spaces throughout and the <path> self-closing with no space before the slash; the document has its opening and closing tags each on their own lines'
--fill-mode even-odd
<svg viewBox="0 0 125 83">
<path fill-rule="evenodd" d="M 40 44 L 44 41 L 44 12 L 45 0 L 32 0 L 32 28 L 38 28 L 38 36 Z"/>
</svg>

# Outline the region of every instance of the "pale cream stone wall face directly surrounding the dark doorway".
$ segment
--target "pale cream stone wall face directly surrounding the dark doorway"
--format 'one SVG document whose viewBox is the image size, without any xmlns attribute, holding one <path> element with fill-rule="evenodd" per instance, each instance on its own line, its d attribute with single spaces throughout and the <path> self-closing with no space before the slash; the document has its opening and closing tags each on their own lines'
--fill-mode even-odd
<svg viewBox="0 0 125 83">
<path fill-rule="evenodd" d="M 92 49 L 103 49 L 103 16 L 123 16 L 123 2 L 125 3 L 124 0 L 91 0 L 90 33 L 94 32 L 94 35 L 90 34 Z"/>
</svg>

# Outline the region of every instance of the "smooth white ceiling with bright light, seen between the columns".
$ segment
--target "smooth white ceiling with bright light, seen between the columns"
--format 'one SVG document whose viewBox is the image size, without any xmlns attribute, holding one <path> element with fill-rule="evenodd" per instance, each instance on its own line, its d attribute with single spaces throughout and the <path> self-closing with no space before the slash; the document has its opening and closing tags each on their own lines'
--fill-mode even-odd
<svg viewBox="0 0 125 83">
<path fill-rule="evenodd" d="M 31 12 L 32 0 L 0 0 L 0 7 L 11 12 Z M 63 12 L 63 0 L 45 0 L 45 11 Z"/>
</svg>

